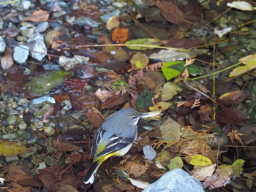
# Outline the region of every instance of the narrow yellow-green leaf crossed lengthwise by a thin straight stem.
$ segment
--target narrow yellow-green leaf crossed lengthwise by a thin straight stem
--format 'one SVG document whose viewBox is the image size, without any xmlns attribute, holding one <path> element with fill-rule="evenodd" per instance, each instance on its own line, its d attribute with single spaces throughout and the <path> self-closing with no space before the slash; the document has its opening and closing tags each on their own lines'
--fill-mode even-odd
<svg viewBox="0 0 256 192">
<path fill-rule="evenodd" d="M 130 50 L 152 50 L 154 47 L 141 47 L 141 46 L 132 46 L 132 45 L 160 45 L 156 39 L 151 38 L 142 38 L 142 39 L 132 39 L 130 41 L 125 42 L 125 45 Z"/>
</svg>

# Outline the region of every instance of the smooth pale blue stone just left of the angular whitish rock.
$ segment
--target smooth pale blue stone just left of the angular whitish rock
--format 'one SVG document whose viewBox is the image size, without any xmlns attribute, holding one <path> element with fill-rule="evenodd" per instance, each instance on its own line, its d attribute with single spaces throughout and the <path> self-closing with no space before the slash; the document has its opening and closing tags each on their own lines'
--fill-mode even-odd
<svg viewBox="0 0 256 192">
<path fill-rule="evenodd" d="M 26 45 L 16 46 L 13 52 L 13 59 L 18 64 L 25 64 L 29 57 L 29 47 Z"/>
</svg>

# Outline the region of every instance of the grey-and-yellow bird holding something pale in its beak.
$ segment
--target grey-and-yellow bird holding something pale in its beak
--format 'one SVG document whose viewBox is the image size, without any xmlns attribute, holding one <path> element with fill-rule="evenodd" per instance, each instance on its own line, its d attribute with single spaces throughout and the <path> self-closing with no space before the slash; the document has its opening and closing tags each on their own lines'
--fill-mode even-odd
<svg viewBox="0 0 256 192">
<path fill-rule="evenodd" d="M 140 118 L 159 115 L 160 112 L 139 112 L 133 108 L 124 108 L 108 117 L 99 127 L 91 146 L 93 162 L 83 177 L 83 183 L 94 183 L 94 174 L 108 158 L 128 153 L 138 135 L 137 123 Z"/>
</svg>

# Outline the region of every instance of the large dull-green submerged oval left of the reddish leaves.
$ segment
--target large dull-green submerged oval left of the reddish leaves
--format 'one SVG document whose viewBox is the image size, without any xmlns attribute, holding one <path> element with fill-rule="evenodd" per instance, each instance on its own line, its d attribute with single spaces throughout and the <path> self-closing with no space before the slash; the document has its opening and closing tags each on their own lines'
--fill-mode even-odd
<svg viewBox="0 0 256 192">
<path fill-rule="evenodd" d="M 60 85 L 61 82 L 67 79 L 69 74 L 69 72 L 64 71 L 46 72 L 26 83 L 25 88 L 30 93 L 43 94 Z"/>
</svg>

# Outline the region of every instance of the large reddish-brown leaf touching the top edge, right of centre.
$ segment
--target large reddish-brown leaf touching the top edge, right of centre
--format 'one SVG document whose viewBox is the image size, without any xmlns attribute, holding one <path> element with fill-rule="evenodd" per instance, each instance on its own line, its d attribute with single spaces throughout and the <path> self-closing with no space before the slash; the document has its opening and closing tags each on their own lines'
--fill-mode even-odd
<svg viewBox="0 0 256 192">
<path fill-rule="evenodd" d="M 178 24 L 185 17 L 173 1 L 157 1 L 157 7 L 161 10 L 162 16 L 170 23 Z"/>
</svg>

